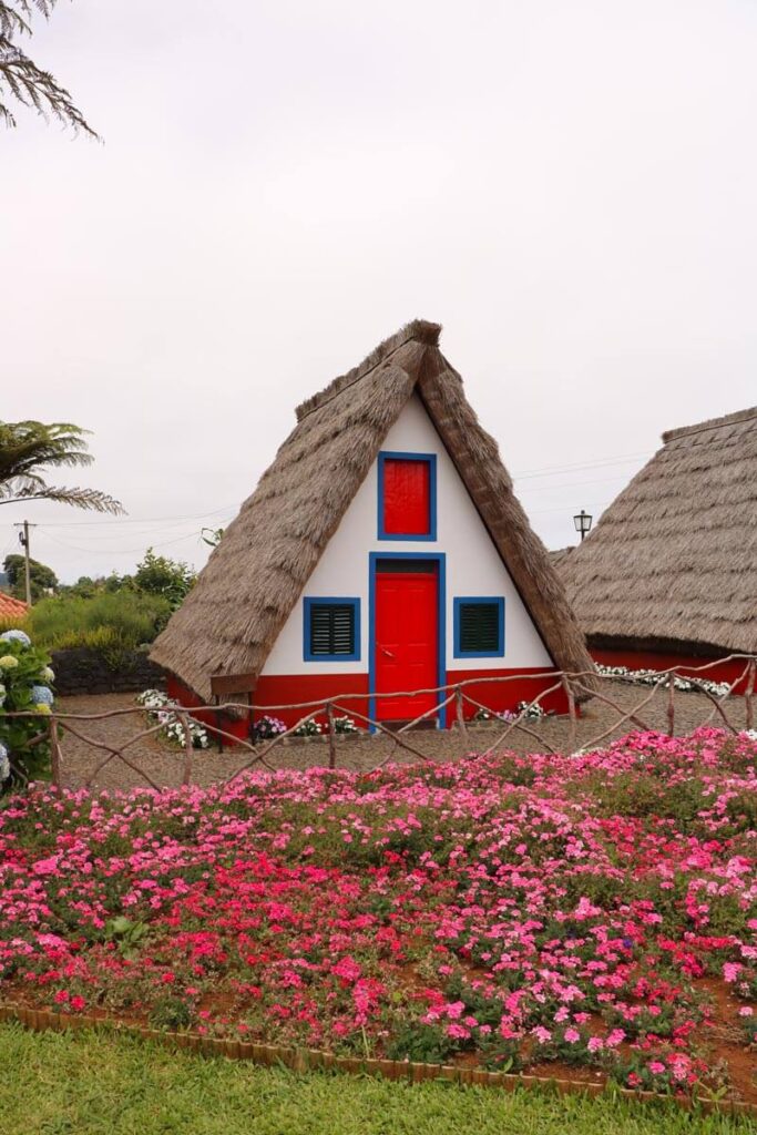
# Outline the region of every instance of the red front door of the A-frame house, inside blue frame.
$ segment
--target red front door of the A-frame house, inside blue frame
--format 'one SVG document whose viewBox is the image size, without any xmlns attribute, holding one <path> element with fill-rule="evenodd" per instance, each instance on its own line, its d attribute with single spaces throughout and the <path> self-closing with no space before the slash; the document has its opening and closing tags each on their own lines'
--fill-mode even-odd
<svg viewBox="0 0 757 1135">
<path fill-rule="evenodd" d="M 395 564 L 401 564 L 395 561 Z M 438 575 L 423 570 L 376 573 L 376 690 L 432 689 L 438 686 Z M 394 569 L 394 565 L 393 565 Z M 378 721 L 411 721 L 438 704 L 440 696 L 377 697 Z"/>
</svg>

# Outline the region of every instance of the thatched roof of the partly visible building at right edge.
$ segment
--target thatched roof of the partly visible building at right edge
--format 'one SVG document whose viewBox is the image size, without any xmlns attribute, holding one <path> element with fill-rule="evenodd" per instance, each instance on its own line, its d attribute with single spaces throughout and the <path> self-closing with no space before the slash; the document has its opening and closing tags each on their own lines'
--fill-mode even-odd
<svg viewBox="0 0 757 1135">
<path fill-rule="evenodd" d="M 589 642 L 757 653 L 757 406 L 663 447 L 560 564 Z"/>
</svg>

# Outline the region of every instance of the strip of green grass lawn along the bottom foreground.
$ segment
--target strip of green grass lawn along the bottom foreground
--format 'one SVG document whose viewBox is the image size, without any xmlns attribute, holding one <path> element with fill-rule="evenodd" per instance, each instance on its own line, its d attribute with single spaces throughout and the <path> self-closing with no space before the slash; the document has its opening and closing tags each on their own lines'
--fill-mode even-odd
<svg viewBox="0 0 757 1135">
<path fill-rule="evenodd" d="M 2 1135 L 726 1135 L 747 1119 L 541 1092 L 256 1068 L 107 1032 L 0 1026 Z"/>
</svg>

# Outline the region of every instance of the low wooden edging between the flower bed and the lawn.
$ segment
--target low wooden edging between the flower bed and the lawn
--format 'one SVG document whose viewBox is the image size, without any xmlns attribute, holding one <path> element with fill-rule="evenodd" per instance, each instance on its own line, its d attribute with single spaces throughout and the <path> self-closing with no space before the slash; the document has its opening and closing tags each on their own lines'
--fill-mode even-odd
<svg viewBox="0 0 757 1135">
<path fill-rule="evenodd" d="M 674 1102 L 687 1111 L 698 1108 L 707 1113 L 720 1112 L 757 1118 L 757 1104 L 739 1100 L 715 1100 L 700 1096 L 663 1095 L 658 1092 L 633 1091 L 629 1087 L 608 1087 L 608 1084 L 587 1084 L 578 1079 L 558 1079 L 550 1076 L 529 1076 L 506 1071 L 488 1071 L 486 1068 L 459 1068 L 455 1065 L 421 1063 L 413 1060 L 381 1060 L 372 1057 L 339 1057 L 321 1049 L 285 1048 L 278 1044 L 259 1044 L 254 1041 L 233 1041 L 199 1033 L 163 1032 L 143 1025 L 123 1024 L 117 1019 L 91 1017 L 86 1014 L 53 1012 L 51 1009 L 28 1009 L 25 1006 L 0 1003 L 0 1023 L 16 1022 L 34 1032 L 67 1032 L 85 1028 L 107 1029 L 131 1036 L 141 1036 L 166 1048 L 191 1049 L 207 1057 L 226 1057 L 229 1060 L 250 1060 L 262 1067 L 278 1065 L 296 1073 L 336 1070 L 353 1076 L 380 1076 L 384 1079 L 404 1081 L 413 1084 L 427 1079 L 444 1079 L 461 1085 L 498 1087 L 514 1092 L 518 1088 L 542 1088 L 557 1091 L 561 1095 L 603 1095 L 612 1091 L 622 1099 L 640 1103 Z"/>
</svg>

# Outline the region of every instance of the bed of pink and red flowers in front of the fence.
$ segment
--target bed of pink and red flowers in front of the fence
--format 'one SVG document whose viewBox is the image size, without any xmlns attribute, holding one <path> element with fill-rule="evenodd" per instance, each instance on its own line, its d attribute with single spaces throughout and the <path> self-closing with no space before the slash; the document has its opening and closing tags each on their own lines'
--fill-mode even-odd
<svg viewBox="0 0 757 1135">
<path fill-rule="evenodd" d="M 757 742 L 247 774 L 0 810 L 6 999 L 749 1095 Z M 564 1073 L 563 1073 L 564 1074 Z"/>
</svg>

